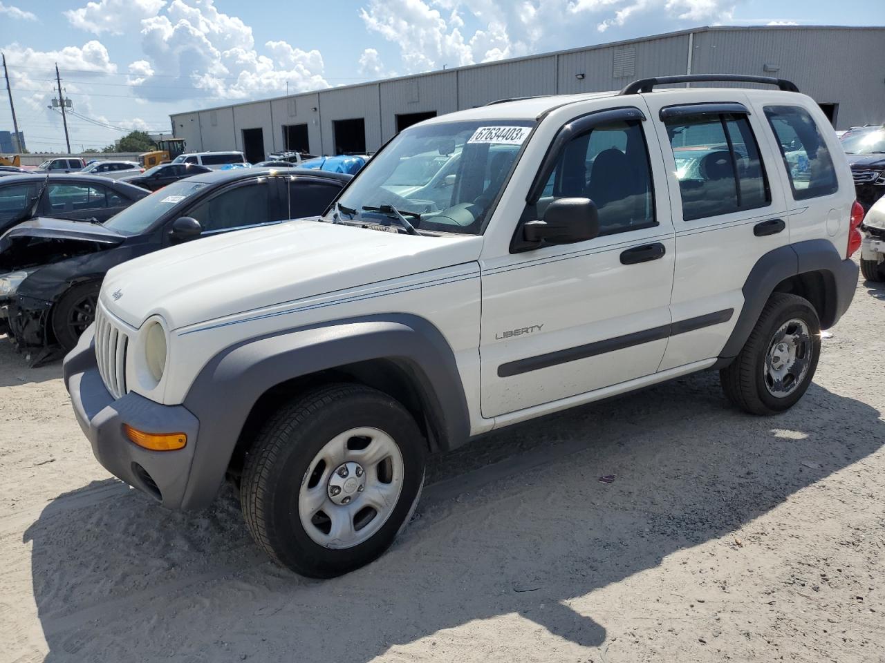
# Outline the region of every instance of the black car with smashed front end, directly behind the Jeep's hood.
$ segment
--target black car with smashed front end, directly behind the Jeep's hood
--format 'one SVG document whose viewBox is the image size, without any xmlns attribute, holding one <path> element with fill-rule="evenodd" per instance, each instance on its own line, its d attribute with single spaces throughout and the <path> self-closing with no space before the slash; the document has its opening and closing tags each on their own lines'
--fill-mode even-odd
<svg viewBox="0 0 885 663">
<path fill-rule="evenodd" d="M 350 175 L 212 171 L 175 182 L 104 225 L 45 217 L 0 237 L 0 334 L 68 351 L 95 317 L 104 274 L 139 255 L 221 232 L 322 214 Z"/>
</svg>

